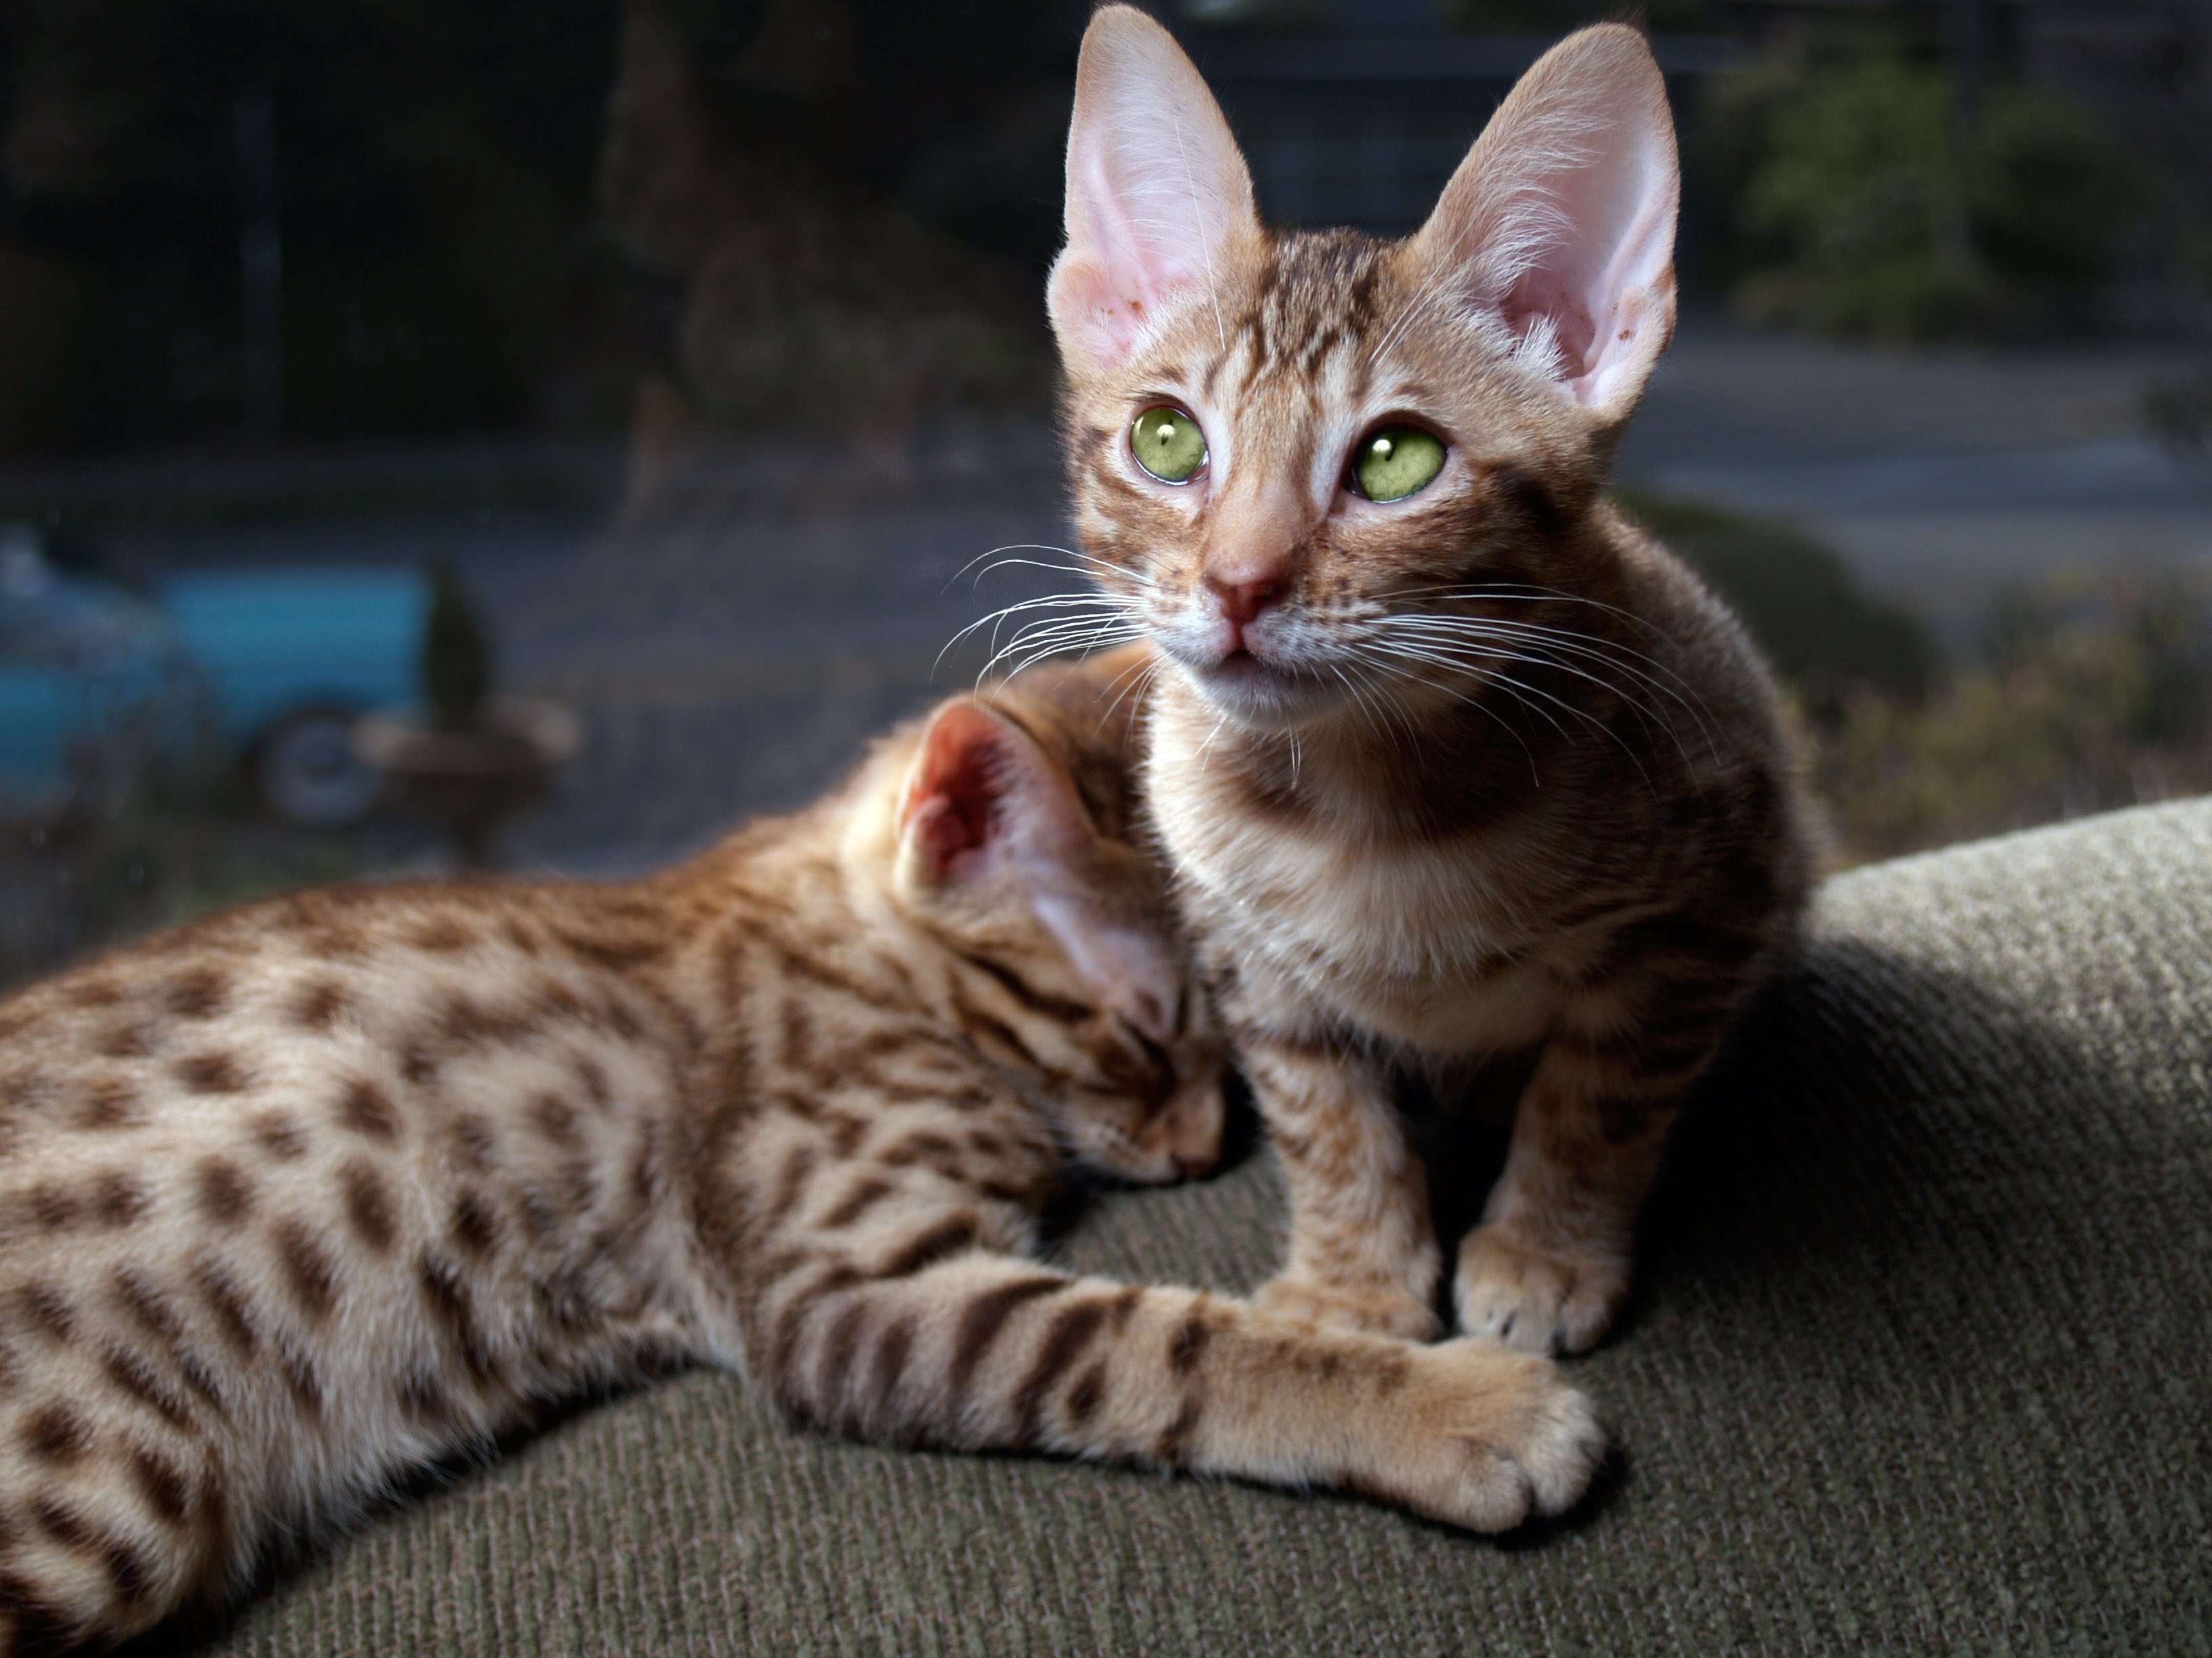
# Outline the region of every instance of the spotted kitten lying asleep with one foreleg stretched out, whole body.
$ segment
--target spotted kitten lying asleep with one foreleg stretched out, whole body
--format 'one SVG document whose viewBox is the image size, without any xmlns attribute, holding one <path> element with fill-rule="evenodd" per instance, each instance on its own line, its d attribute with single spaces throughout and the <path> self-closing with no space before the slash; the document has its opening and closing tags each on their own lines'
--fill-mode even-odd
<svg viewBox="0 0 2212 1658">
<path fill-rule="evenodd" d="M 1221 1138 L 1095 692 L 947 703 L 646 880 L 303 893 L 0 1004 L 0 1651 L 681 1360 L 874 1439 L 1573 1501 L 1544 1364 L 1024 1260 L 1064 1150 Z"/>
</svg>

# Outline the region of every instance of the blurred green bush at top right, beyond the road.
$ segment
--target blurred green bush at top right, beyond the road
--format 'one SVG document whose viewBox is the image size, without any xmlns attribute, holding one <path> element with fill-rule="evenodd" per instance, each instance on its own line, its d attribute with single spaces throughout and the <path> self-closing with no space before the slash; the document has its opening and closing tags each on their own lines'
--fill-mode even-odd
<svg viewBox="0 0 2212 1658">
<path fill-rule="evenodd" d="M 2148 199 L 2077 104 L 2000 84 L 1962 128 L 1936 64 L 1867 42 L 1717 77 L 1692 159 L 1734 201 L 1721 274 L 1747 316 L 1876 338 L 2081 309 Z"/>
</svg>

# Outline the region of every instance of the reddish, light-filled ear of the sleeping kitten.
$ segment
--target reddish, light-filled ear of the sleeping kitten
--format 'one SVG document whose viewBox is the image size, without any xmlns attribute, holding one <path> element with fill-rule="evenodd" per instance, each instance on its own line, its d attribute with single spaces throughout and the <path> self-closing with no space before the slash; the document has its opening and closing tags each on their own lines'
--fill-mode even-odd
<svg viewBox="0 0 2212 1658">
<path fill-rule="evenodd" d="M 1086 833 L 1073 785 L 1013 721 L 971 701 L 940 707 L 898 802 L 900 856 L 931 884 Z"/>
</svg>

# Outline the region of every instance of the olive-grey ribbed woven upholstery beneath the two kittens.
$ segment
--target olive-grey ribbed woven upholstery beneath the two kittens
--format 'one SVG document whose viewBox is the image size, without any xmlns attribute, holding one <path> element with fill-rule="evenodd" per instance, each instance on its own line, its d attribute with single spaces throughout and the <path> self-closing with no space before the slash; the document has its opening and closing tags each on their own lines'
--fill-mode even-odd
<svg viewBox="0 0 2212 1658">
<path fill-rule="evenodd" d="M 1683 1125 L 1564 1525 L 874 1450 L 692 1373 L 285 1572 L 221 1654 L 2212 1654 L 2212 802 L 1845 875 Z M 1498 1156 L 1498 1147 L 1475 1154 Z M 1265 1154 L 1091 1269 L 1223 1289 Z"/>
</svg>

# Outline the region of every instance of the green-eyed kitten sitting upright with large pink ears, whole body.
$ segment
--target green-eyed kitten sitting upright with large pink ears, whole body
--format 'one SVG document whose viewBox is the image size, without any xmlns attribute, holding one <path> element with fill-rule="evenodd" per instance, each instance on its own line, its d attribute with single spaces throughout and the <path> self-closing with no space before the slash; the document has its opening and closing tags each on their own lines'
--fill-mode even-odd
<svg viewBox="0 0 2212 1658">
<path fill-rule="evenodd" d="M 1674 203 L 1630 29 L 1546 53 L 1396 243 L 1263 230 L 1168 33 L 1084 38 L 1051 276 L 1077 522 L 1172 663 L 1146 787 L 1290 1183 L 1274 1311 L 1436 1329 L 1394 1083 L 1528 1052 L 1460 1326 L 1590 1346 L 1803 906 L 1767 670 L 1599 493 L 1672 332 Z"/>
</svg>

